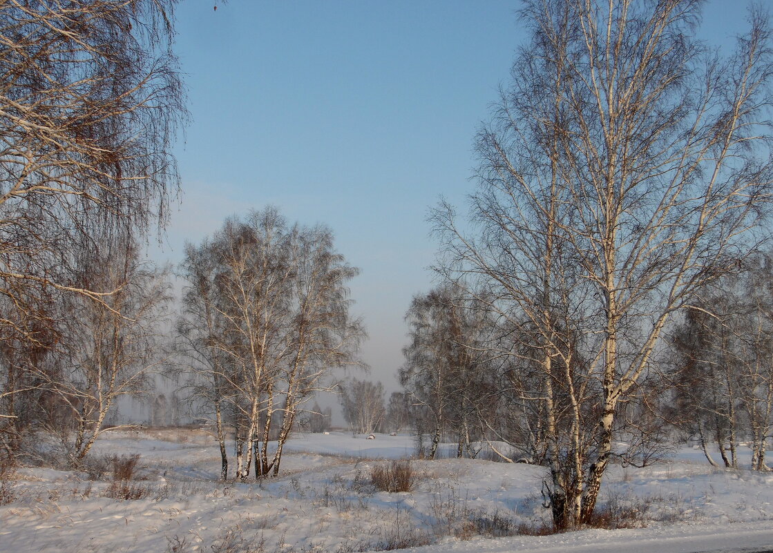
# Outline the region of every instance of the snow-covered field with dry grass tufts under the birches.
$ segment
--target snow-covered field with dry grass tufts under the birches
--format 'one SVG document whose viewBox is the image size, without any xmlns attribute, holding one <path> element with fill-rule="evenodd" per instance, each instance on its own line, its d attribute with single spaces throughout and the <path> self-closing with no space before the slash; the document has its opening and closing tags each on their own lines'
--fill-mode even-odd
<svg viewBox="0 0 773 553">
<path fill-rule="evenodd" d="M 107 497 L 109 470 L 20 468 L 10 478 L 11 491 L 0 491 L 12 497 L 0 506 L 0 551 L 773 549 L 773 474 L 714 469 L 687 448 L 658 466 L 608 471 L 602 503 L 611 512 L 638 513 L 630 521 L 634 528 L 527 535 L 538 533 L 548 516 L 538 466 L 414 460 L 412 491 L 376 490 L 373 467 L 410 456 L 411 436 L 298 436 L 286 446 L 281 476 L 263 483 L 217 483 L 219 452 L 197 430 L 114 431 L 95 447 L 97 458 L 141 456 L 128 483 L 141 498 Z"/>
</svg>

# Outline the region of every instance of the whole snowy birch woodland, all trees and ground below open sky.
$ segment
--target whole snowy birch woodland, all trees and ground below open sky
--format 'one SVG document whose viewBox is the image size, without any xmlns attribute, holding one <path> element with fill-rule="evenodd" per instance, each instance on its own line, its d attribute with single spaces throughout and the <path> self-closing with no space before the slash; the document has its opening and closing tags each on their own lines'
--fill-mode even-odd
<svg viewBox="0 0 773 553">
<path fill-rule="evenodd" d="M 0 551 L 773 545 L 766 5 L 727 44 L 693 0 L 513 5 L 392 392 L 335 220 L 148 255 L 180 3 L 0 0 Z"/>
</svg>

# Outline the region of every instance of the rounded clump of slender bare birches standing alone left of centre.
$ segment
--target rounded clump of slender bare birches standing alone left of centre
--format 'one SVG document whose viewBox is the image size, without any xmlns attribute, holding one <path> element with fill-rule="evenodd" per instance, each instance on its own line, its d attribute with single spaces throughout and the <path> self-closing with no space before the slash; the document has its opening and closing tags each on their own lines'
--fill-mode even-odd
<svg viewBox="0 0 773 553">
<path fill-rule="evenodd" d="M 277 474 L 302 403 L 329 385 L 331 368 L 359 364 L 363 324 L 346 287 L 357 273 L 329 229 L 288 226 L 275 209 L 186 246 L 178 328 L 196 397 L 213 414 L 223 480 L 230 436 L 238 478 L 250 466 L 255 477 Z"/>
</svg>

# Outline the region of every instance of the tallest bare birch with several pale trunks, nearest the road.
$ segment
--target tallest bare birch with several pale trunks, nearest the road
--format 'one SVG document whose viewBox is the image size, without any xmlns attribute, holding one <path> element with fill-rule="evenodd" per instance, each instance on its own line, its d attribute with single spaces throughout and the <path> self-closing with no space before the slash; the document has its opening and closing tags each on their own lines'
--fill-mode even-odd
<svg viewBox="0 0 773 553">
<path fill-rule="evenodd" d="M 441 270 L 490 290 L 532 337 L 559 528 L 591 520 L 616 414 L 664 325 L 754 246 L 768 212 L 767 19 L 754 9 L 723 58 L 691 38 L 699 10 L 526 2 L 530 44 L 478 137 L 477 235 L 436 212 Z"/>
</svg>

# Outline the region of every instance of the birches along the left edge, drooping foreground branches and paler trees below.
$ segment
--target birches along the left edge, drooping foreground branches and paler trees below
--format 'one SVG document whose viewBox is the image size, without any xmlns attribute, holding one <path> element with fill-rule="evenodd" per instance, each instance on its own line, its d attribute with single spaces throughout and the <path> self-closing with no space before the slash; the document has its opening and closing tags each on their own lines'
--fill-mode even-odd
<svg viewBox="0 0 773 553">
<path fill-rule="evenodd" d="M 158 364 L 163 226 L 185 123 L 175 0 L 0 0 L 0 457 L 83 459 Z M 0 459 L 2 460 L 2 459 Z"/>
</svg>

